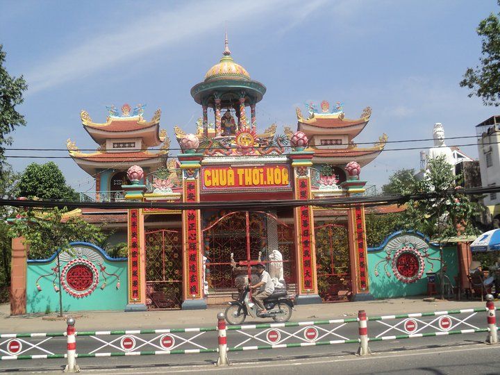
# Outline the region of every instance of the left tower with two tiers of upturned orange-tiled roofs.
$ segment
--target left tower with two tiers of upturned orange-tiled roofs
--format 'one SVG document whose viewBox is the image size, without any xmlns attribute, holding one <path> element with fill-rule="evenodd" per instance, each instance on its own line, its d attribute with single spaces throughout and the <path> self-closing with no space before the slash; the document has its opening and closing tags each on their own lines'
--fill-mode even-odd
<svg viewBox="0 0 500 375">
<path fill-rule="evenodd" d="M 160 131 L 161 110 L 156 110 L 149 122 L 144 120 L 143 114 L 142 105 L 132 109 L 124 104 L 122 113 L 110 106 L 106 122 L 99 124 L 92 121 L 87 111 L 81 111 L 83 127 L 99 148 L 84 153 L 68 139 L 67 149 L 76 164 L 95 178 L 97 200 L 122 199 L 122 185 L 128 183 L 126 171 L 132 165 L 139 165 L 146 174 L 165 165 L 170 140 L 166 131 Z M 148 150 L 158 146 L 160 149 L 155 152 Z M 89 198 L 94 200 L 94 197 Z"/>
</svg>

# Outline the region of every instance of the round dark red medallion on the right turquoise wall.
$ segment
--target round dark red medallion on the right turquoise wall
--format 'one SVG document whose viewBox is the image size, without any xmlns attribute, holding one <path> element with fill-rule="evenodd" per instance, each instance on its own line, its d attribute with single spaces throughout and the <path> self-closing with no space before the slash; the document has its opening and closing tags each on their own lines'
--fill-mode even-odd
<svg viewBox="0 0 500 375">
<path fill-rule="evenodd" d="M 424 269 L 424 256 L 412 247 L 402 247 L 392 258 L 392 272 L 403 283 L 415 283 L 422 278 Z"/>
</svg>

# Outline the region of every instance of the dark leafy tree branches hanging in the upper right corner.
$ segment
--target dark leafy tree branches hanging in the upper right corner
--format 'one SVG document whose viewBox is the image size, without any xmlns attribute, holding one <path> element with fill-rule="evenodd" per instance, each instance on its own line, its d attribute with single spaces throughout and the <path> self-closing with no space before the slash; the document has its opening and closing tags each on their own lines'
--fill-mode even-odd
<svg viewBox="0 0 500 375">
<path fill-rule="evenodd" d="M 500 6 L 500 0 L 498 0 Z M 469 97 L 476 95 L 485 106 L 500 106 L 500 19 L 491 13 L 479 22 L 476 29 L 481 37 L 480 65 L 467 68 L 460 87 L 472 90 Z"/>
</svg>

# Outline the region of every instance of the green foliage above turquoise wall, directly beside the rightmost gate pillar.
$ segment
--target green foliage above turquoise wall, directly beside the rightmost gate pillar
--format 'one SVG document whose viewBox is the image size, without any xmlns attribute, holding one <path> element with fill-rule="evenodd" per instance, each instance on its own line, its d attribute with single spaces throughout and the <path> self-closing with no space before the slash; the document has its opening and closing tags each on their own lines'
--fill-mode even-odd
<svg viewBox="0 0 500 375">
<path fill-rule="evenodd" d="M 403 228 L 402 213 L 368 214 L 365 216 L 367 247 L 378 247 L 385 238 Z"/>
</svg>

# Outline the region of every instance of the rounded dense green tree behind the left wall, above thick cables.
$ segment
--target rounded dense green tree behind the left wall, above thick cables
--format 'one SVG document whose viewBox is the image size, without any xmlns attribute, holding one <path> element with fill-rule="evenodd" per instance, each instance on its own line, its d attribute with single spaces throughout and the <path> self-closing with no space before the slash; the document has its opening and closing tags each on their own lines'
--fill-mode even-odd
<svg viewBox="0 0 500 375">
<path fill-rule="evenodd" d="M 78 199 L 78 193 L 66 185 L 66 178 L 56 163 L 31 163 L 19 178 L 21 197 L 42 199 Z"/>
</svg>

